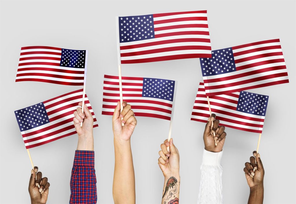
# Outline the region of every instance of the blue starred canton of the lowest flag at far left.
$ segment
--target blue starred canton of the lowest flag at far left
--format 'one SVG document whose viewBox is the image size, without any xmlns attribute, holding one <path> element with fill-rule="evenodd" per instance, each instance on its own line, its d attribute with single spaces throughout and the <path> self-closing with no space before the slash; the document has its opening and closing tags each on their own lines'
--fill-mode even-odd
<svg viewBox="0 0 296 204">
<path fill-rule="evenodd" d="M 15 111 L 15 117 L 21 132 L 50 122 L 43 103 Z"/>
</svg>

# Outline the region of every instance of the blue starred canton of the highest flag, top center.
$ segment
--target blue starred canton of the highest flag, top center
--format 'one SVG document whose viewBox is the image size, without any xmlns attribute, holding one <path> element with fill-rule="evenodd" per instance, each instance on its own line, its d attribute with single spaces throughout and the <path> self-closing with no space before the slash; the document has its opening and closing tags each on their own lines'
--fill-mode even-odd
<svg viewBox="0 0 296 204">
<path fill-rule="evenodd" d="M 153 15 L 119 17 L 119 42 L 155 38 Z"/>
</svg>

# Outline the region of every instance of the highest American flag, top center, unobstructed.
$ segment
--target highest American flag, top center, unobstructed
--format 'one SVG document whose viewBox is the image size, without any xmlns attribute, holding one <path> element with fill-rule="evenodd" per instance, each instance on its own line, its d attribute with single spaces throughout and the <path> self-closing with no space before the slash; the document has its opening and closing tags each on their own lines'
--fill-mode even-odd
<svg viewBox="0 0 296 204">
<path fill-rule="evenodd" d="M 119 17 L 121 64 L 211 57 L 207 11 Z"/>
</svg>

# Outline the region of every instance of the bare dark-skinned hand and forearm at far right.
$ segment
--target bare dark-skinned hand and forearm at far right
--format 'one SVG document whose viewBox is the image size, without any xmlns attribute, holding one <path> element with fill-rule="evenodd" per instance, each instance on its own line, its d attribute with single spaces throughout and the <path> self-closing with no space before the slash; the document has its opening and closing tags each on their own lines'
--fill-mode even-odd
<svg viewBox="0 0 296 204">
<path fill-rule="evenodd" d="M 246 174 L 247 183 L 250 187 L 250 196 L 248 204 L 262 204 L 264 196 L 263 178 L 264 168 L 260 159 L 260 154 L 253 151 L 250 162 L 245 163 L 244 173 Z"/>
</svg>

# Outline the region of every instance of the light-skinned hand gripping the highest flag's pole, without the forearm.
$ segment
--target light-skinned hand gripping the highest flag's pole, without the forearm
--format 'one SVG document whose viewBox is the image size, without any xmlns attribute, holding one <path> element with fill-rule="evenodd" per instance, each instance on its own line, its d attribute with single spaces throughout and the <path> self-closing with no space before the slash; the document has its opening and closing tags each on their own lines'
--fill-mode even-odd
<svg viewBox="0 0 296 204">
<path fill-rule="evenodd" d="M 131 105 L 127 104 L 126 101 L 123 101 L 123 110 L 120 113 L 120 102 L 117 102 L 117 106 L 114 110 L 112 117 L 112 128 L 115 139 L 120 139 L 123 141 L 128 141 L 133 134 L 133 130 L 137 125 L 137 119 L 134 116 L 133 111 L 131 110 Z M 122 121 L 121 121 L 121 118 Z M 122 124 L 124 126 L 122 126 Z"/>
</svg>

